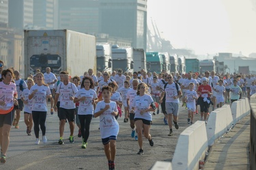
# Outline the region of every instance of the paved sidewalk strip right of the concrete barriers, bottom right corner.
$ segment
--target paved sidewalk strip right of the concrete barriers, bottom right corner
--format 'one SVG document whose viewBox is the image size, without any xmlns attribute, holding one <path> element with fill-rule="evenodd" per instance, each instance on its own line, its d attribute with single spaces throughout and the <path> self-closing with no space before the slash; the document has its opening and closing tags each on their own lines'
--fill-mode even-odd
<svg viewBox="0 0 256 170">
<path fill-rule="evenodd" d="M 250 169 L 250 114 L 211 148 L 203 169 Z"/>
</svg>

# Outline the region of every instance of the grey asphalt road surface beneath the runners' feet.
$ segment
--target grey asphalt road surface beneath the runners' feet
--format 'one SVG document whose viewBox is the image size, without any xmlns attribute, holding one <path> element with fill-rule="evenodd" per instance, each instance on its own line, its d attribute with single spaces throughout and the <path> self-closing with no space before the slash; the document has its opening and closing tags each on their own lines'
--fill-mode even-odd
<svg viewBox="0 0 256 170">
<path fill-rule="evenodd" d="M 212 109 L 212 107 L 210 107 Z M 48 109 L 50 110 L 50 109 Z M 150 129 L 154 146 L 150 146 L 147 139 L 143 138 L 143 155 L 138 155 L 139 145 L 130 136 L 130 123 L 124 123 L 124 118 L 118 118 L 119 134 L 117 136 L 117 152 L 115 157 L 116 169 L 150 169 L 156 160 L 169 161 L 173 158 L 177 139 L 190 126 L 187 124 L 187 110 L 180 107 L 179 125 L 176 130 L 173 126 L 173 136 L 169 137 L 169 126 L 163 123 L 163 114 L 153 116 Z M 194 122 L 200 119 L 195 115 Z M 35 145 L 35 135 L 28 136 L 23 120 L 20 129 L 12 126 L 10 132 L 10 146 L 7 152 L 7 162 L 0 165 L 0 169 L 108 169 L 106 156 L 100 138 L 99 118 L 93 118 L 90 126 L 90 135 L 86 149 L 81 148 L 82 139 L 77 137 L 75 129 L 74 143 L 69 143 L 69 126 L 66 124 L 64 144 L 59 145 L 59 120 L 57 114 L 48 113 L 46 119 L 46 137 L 48 143 Z M 33 133 L 33 131 L 32 131 Z M 40 138 L 42 133 L 40 131 Z"/>
</svg>

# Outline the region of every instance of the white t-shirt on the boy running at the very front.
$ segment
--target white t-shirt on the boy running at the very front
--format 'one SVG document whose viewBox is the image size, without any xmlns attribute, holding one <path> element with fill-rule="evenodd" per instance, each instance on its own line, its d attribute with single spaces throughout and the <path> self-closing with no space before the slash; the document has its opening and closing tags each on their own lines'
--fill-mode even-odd
<svg viewBox="0 0 256 170">
<path fill-rule="evenodd" d="M 98 102 L 95 112 L 100 112 L 106 105 L 109 105 L 110 108 L 100 115 L 100 136 L 102 139 L 110 136 L 117 137 L 119 132 L 119 124 L 115 120 L 115 116 L 111 114 L 112 112 L 117 112 L 115 101 L 111 101 L 110 103 L 105 103 L 104 101 Z"/>
</svg>

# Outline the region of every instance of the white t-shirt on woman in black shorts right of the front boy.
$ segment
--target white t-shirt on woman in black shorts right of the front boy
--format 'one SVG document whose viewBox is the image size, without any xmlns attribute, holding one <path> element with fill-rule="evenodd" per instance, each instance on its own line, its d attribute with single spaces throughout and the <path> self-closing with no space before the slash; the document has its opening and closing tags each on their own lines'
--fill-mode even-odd
<svg viewBox="0 0 256 170">
<path fill-rule="evenodd" d="M 143 115 L 140 114 L 141 110 L 150 108 L 151 103 L 154 102 L 150 95 L 137 95 L 132 101 L 132 107 L 134 107 L 134 118 L 143 118 L 145 120 L 152 121 L 152 114 L 145 112 Z"/>
</svg>

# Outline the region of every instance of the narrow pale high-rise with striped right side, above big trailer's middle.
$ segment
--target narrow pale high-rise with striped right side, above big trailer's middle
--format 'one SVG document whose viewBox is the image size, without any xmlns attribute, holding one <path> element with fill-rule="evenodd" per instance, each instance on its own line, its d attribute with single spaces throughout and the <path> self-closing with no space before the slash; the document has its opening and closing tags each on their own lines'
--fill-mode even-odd
<svg viewBox="0 0 256 170">
<path fill-rule="evenodd" d="M 33 26 L 42 29 L 54 28 L 54 1 L 33 0 Z"/>
</svg>

